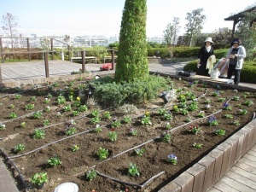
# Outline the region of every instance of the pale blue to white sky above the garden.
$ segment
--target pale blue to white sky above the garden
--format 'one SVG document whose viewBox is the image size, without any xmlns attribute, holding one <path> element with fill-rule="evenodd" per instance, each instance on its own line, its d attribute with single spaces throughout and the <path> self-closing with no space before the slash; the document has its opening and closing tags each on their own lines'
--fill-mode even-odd
<svg viewBox="0 0 256 192">
<path fill-rule="evenodd" d="M 162 37 L 173 17 L 180 20 L 180 34 L 185 32 L 187 13 L 203 9 L 207 16 L 202 32 L 232 28 L 224 18 L 256 4 L 256 0 L 148 0 L 147 36 Z M 0 0 L 2 16 L 11 13 L 19 29 L 51 32 L 86 32 L 118 35 L 125 0 Z"/>
</svg>

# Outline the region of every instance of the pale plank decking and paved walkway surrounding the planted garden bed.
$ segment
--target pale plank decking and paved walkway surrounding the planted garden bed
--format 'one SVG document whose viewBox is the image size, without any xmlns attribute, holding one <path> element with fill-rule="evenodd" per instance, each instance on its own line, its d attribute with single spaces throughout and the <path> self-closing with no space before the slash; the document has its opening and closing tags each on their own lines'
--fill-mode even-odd
<svg viewBox="0 0 256 192">
<path fill-rule="evenodd" d="M 177 70 L 182 70 L 186 63 L 172 64 L 149 64 L 149 70 L 153 73 L 165 73 L 175 75 Z M 98 72 L 100 64 L 86 64 L 86 70 Z M 70 61 L 49 61 L 49 75 L 67 75 L 73 71 L 79 71 L 80 64 Z M 37 79 L 45 77 L 44 61 L 27 61 L 19 63 L 1 64 L 3 83 L 9 81 Z M 201 79 L 206 81 L 215 81 L 218 83 L 227 83 L 227 79 L 213 80 L 208 77 L 192 76 L 190 79 Z M 236 87 L 236 85 L 233 85 Z M 256 90 L 256 84 L 242 83 L 240 87 L 252 88 Z M 229 172 L 208 192 L 250 192 L 256 191 L 256 145 L 233 166 Z M 19 192 L 15 186 L 14 179 L 10 176 L 3 161 L 0 159 L 0 192 Z"/>
</svg>

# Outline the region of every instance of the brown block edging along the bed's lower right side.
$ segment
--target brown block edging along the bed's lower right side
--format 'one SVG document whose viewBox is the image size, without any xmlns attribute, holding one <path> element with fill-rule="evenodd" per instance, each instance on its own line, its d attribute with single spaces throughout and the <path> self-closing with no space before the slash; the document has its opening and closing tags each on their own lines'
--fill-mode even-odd
<svg viewBox="0 0 256 192">
<path fill-rule="evenodd" d="M 255 144 L 256 119 L 253 119 L 159 192 L 207 191 Z"/>
</svg>

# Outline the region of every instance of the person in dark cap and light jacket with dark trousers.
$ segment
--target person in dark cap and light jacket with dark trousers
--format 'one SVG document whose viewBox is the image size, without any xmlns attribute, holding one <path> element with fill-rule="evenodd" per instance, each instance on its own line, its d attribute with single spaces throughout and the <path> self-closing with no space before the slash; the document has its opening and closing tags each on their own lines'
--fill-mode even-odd
<svg viewBox="0 0 256 192">
<path fill-rule="evenodd" d="M 230 45 L 231 47 L 226 55 L 226 58 L 229 59 L 227 78 L 231 79 L 234 74 L 234 84 L 239 84 L 241 68 L 244 58 L 247 56 L 246 49 L 241 46 L 241 40 L 239 38 L 234 38 Z"/>
</svg>

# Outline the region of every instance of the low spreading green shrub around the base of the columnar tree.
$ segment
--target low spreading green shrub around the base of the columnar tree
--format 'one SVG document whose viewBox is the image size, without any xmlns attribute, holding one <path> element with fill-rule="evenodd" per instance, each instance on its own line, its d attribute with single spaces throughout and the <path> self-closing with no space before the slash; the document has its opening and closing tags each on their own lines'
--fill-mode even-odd
<svg viewBox="0 0 256 192">
<path fill-rule="evenodd" d="M 130 83 L 101 82 L 96 84 L 96 90 L 93 96 L 102 105 L 113 107 L 120 106 L 124 103 L 137 104 L 153 100 L 158 97 L 161 90 L 168 88 L 166 79 L 160 76 L 149 76 L 147 81 L 141 80 Z"/>
</svg>

